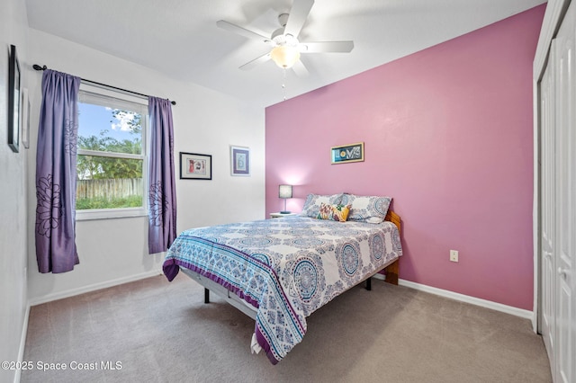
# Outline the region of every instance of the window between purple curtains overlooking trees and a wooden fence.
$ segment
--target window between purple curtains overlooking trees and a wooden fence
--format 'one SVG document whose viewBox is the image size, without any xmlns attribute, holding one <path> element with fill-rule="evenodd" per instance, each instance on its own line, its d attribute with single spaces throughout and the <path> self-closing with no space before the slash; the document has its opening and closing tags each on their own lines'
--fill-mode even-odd
<svg viewBox="0 0 576 383">
<path fill-rule="evenodd" d="M 76 218 L 146 215 L 148 100 L 82 84 Z"/>
</svg>

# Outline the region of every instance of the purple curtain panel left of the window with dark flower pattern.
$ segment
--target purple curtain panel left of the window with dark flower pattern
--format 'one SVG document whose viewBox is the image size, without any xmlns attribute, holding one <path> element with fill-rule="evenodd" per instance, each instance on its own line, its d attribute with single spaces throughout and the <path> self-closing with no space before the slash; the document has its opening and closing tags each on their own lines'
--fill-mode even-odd
<svg viewBox="0 0 576 383">
<path fill-rule="evenodd" d="M 36 259 L 40 272 L 69 272 L 76 253 L 76 145 L 80 78 L 45 70 L 36 153 Z"/>
</svg>

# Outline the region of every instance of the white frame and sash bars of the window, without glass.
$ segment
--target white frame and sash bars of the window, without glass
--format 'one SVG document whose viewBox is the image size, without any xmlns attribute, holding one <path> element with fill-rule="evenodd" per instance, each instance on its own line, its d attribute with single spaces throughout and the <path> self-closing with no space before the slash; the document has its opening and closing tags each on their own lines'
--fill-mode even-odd
<svg viewBox="0 0 576 383">
<path fill-rule="evenodd" d="M 126 158 L 142 160 L 142 206 L 138 208 L 117 208 L 117 209 L 81 209 L 76 211 L 76 221 L 90 219 L 110 219 L 110 218 L 133 218 L 148 217 L 148 142 L 149 142 L 149 116 L 148 116 L 148 98 L 139 97 L 133 94 L 124 93 L 118 90 L 112 90 L 105 85 L 92 85 L 85 82 L 80 83 L 78 102 L 80 94 L 94 94 L 95 97 L 107 99 L 110 105 L 107 107 L 116 108 L 119 103 L 130 102 L 138 104 L 142 111 L 140 120 L 142 134 L 142 154 L 134 155 L 130 153 L 112 153 L 101 152 L 98 150 L 76 148 L 78 156 L 106 156 L 112 158 Z M 114 102 L 114 100 L 117 100 Z M 94 103 L 93 103 L 94 104 Z M 116 105 L 116 106 L 115 106 Z M 78 127 L 80 129 L 80 127 Z M 76 192 L 76 191 L 75 191 Z"/>
</svg>

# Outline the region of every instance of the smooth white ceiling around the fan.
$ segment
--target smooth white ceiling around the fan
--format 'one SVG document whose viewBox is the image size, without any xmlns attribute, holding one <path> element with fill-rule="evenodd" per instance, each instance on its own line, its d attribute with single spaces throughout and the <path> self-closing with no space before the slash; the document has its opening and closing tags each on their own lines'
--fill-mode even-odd
<svg viewBox="0 0 576 383">
<path fill-rule="evenodd" d="M 218 20 L 269 36 L 293 0 L 25 0 L 31 28 L 267 106 L 284 99 L 283 70 L 265 43 Z M 292 98 L 520 13 L 544 0 L 316 0 L 301 41 L 354 40 L 350 53 L 302 54 L 310 74 L 286 72 Z M 48 60 L 48 58 L 47 58 Z M 49 62 L 39 62 L 48 65 Z M 54 68 L 58 70 L 58 68 Z M 92 79 L 98 81 L 97 78 Z"/>
</svg>

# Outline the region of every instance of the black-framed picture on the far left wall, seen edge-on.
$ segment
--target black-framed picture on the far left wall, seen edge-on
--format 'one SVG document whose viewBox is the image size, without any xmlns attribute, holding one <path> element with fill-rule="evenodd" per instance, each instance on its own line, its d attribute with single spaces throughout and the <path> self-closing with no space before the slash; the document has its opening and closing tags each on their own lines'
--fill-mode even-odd
<svg viewBox="0 0 576 383">
<path fill-rule="evenodd" d="M 20 63 L 16 47 L 10 46 L 8 62 L 8 146 L 18 153 L 20 147 Z"/>
</svg>

